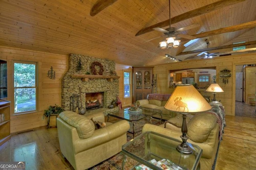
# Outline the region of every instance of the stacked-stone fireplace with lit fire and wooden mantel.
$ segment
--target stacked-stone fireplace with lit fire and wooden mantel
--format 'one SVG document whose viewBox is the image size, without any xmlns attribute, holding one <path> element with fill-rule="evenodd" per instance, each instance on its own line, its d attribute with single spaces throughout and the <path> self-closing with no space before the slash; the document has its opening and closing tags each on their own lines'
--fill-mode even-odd
<svg viewBox="0 0 256 170">
<path fill-rule="evenodd" d="M 102 68 L 104 70 L 100 78 L 93 78 L 96 76 L 93 76 L 91 73 L 92 63 L 95 62 L 100 63 L 100 67 L 94 67 L 94 73 L 99 73 L 99 70 L 101 69 L 102 71 Z M 88 110 L 108 108 L 112 104 L 112 101 L 116 100 L 116 97 L 119 95 L 119 79 L 111 79 L 111 73 L 115 71 L 114 61 L 87 55 L 70 54 L 68 66 L 68 71 L 62 78 L 61 105 L 65 111 L 70 110 L 70 97 L 74 94 L 80 95 L 80 88 L 82 106 L 88 107 Z M 90 72 L 89 78 L 81 78 L 87 75 L 88 72 Z M 80 108 L 80 97 L 79 105 L 78 107 Z"/>
</svg>

